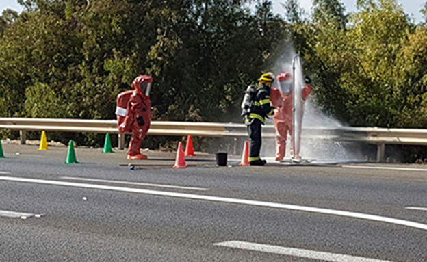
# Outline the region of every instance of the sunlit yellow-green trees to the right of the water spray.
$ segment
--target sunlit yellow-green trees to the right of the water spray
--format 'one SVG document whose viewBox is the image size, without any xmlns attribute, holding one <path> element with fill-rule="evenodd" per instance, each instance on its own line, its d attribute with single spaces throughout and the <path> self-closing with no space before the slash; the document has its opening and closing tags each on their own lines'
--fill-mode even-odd
<svg viewBox="0 0 427 262">
<path fill-rule="evenodd" d="M 314 14 L 325 14 L 324 6 Z M 358 7 L 345 27 L 343 10 L 307 25 L 312 49 L 304 58 L 317 102 L 350 125 L 426 127 L 426 29 L 394 0 L 359 0 Z"/>
</svg>

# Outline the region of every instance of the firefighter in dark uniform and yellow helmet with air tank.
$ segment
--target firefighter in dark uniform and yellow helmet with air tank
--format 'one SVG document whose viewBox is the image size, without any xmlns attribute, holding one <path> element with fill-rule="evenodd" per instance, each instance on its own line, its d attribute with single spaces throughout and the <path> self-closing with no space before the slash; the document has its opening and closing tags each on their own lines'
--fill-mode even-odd
<svg viewBox="0 0 427 262">
<path fill-rule="evenodd" d="M 258 81 L 259 86 L 250 107 L 250 114 L 245 119 L 250 139 L 248 161 L 251 166 L 263 166 L 266 164 L 266 161 L 261 160 L 259 157 L 259 152 L 261 151 L 261 125 L 266 123 L 267 116 L 272 116 L 274 113 L 274 108 L 270 105 L 270 88 L 274 81 L 274 75 L 272 73 L 263 74 Z"/>
</svg>

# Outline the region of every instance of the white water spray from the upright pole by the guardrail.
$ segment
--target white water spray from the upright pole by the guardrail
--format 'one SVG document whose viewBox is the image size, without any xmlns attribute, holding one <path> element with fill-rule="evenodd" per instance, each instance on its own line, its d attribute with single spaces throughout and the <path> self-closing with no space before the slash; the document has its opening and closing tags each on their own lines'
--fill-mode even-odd
<svg viewBox="0 0 427 262">
<path fill-rule="evenodd" d="M 279 58 L 274 68 L 274 73 L 279 74 L 283 71 L 292 73 L 292 58 L 296 55 L 292 48 L 287 49 L 283 52 L 283 55 Z M 295 83 L 298 93 L 296 96 L 300 97 L 300 90 L 305 87 L 304 74 L 302 72 L 302 62 L 298 61 L 295 64 Z M 313 83 L 315 85 L 315 83 Z M 274 86 L 273 86 L 274 87 Z M 315 87 L 314 87 L 315 89 Z M 300 107 L 301 113 L 304 110 L 303 116 L 297 117 L 302 118 L 302 137 L 300 144 L 300 155 L 303 159 L 315 159 L 318 161 L 363 161 L 365 157 L 361 153 L 361 145 L 356 143 L 347 142 L 336 142 L 331 140 L 313 139 L 314 136 L 305 139 L 305 129 L 321 130 L 321 129 L 339 129 L 344 125 L 339 122 L 333 116 L 328 116 L 320 109 L 316 108 L 312 101 L 315 98 L 315 92 L 312 92 L 309 99 L 302 101 L 302 99 L 296 99 L 296 109 Z M 297 110 L 298 112 L 298 110 Z M 297 125 L 298 125 L 298 121 Z M 267 120 L 266 124 L 273 125 L 273 120 Z M 306 135 L 307 136 L 307 135 Z M 319 136 L 320 137 L 320 136 Z M 287 150 L 286 157 L 290 157 L 290 144 L 291 139 L 288 136 L 287 139 Z M 274 157 L 276 143 L 272 140 L 263 141 L 262 155 L 268 157 Z"/>
</svg>

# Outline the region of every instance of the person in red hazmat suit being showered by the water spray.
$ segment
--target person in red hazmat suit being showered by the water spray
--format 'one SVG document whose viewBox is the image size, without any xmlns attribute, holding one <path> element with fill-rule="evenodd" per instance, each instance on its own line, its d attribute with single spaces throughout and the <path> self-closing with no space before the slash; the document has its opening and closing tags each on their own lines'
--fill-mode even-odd
<svg viewBox="0 0 427 262">
<path fill-rule="evenodd" d="M 286 153 L 286 139 L 287 133 L 291 135 L 291 155 L 294 155 L 292 137 L 292 105 L 294 103 L 294 92 L 292 75 L 287 72 L 283 72 L 277 76 L 279 80 L 280 88 L 272 88 L 270 91 L 270 101 L 274 109 L 274 129 L 276 129 L 276 161 L 281 161 L 285 157 Z M 301 92 L 301 99 L 305 101 L 311 93 L 311 84 L 307 84 Z M 301 130 L 297 132 L 297 135 L 301 135 Z M 298 139 L 297 141 L 300 141 Z M 300 158 L 299 155 L 294 158 Z"/>
</svg>

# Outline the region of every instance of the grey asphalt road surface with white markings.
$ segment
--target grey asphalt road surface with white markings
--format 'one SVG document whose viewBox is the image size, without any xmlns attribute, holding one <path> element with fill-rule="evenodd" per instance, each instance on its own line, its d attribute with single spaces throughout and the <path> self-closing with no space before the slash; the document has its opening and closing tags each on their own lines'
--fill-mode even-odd
<svg viewBox="0 0 427 262">
<path fill-rule="evenodd" d="M 170 167 L 131 171 L 124 152 L 36 148 L 3 145 L 0 261 L 427 261 L 424 166 L 174 170 L 148 152 Z"/>
</svg>

